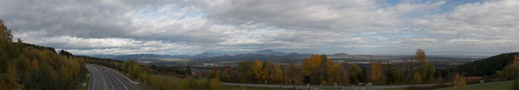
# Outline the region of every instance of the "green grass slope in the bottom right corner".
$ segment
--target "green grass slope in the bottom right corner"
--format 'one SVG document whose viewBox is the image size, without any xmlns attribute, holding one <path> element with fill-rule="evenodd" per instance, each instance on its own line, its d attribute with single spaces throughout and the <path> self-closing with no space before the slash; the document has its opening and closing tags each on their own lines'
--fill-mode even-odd
<svg viewBox="0 0 519 90">
<path fill-rule="evenodd" d="M 513 81 L 489 82 L 482 84 L 467 85 L 467 89 L 510 89 Z M 438 89 L 454 89 L 454 87 L 445 87 Z"/>
</svg>

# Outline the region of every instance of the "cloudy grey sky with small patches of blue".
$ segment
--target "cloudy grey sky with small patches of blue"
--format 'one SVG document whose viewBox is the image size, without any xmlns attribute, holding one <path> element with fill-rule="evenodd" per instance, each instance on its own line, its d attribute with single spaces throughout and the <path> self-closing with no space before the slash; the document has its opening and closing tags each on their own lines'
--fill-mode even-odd
<svg viewBox="0 0 519 90">
<path fill-rule="evenodd" d="M 2 0 L 14 38 L 74 54 L 519 51 L 519 1 Z"/>
</svg>

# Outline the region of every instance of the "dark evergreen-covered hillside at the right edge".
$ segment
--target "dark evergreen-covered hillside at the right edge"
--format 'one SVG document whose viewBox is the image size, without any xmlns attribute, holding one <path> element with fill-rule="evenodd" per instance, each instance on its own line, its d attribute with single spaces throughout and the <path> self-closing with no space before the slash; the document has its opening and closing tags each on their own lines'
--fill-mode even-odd
<svg viewBox="0 0 519 90">
<path fill-rule="evenodd" d="M 456 72 L 465 73 L 465 76 L 491 76 L 496 71 L 503 70 L 504 67 L 512 64 L 514 56 L 519 52 L 504 53 L 491 56 L 485 59 L 463 64 L 456 67 Z"/>
</svg>

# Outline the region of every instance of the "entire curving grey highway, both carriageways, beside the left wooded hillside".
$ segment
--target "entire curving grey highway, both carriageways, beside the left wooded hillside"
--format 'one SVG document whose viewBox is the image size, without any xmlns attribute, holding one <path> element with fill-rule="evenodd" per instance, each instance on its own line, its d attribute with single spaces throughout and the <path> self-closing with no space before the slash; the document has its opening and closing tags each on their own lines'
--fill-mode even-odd
<svg viewBox="0 0 519 90">
<path fill-rule="evenodd" d="M 92 64 L 86 67 L 91 73 L 88 89 L 139 89 L 126 77 L 111 69 Z"/>
</svg>

